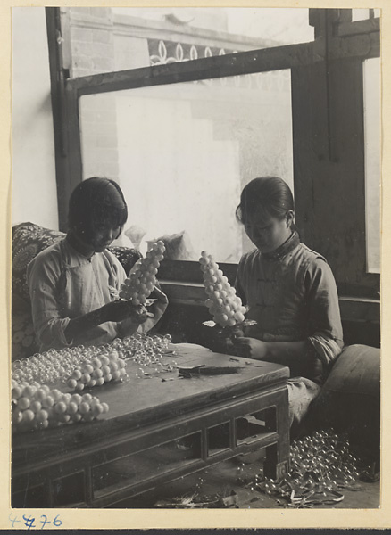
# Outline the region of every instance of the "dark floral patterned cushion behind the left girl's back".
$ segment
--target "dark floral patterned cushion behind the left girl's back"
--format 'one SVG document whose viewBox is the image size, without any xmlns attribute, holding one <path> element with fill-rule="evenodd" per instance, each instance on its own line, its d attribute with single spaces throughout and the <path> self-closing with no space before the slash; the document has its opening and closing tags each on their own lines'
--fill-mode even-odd
<svg viewBox="0 0 391 535">
<path fill-rule="evenodd" d="M 12 360 L 37 352 L 26 268 L 38 252 L 64 236 L 63 232 L 34 223 L 20 223 L 12 227 Z M 138 251 L 128 247 L 112 246 L 109 250 L 120 260 L 127 275 L 141 258 Z"/>
</svg>

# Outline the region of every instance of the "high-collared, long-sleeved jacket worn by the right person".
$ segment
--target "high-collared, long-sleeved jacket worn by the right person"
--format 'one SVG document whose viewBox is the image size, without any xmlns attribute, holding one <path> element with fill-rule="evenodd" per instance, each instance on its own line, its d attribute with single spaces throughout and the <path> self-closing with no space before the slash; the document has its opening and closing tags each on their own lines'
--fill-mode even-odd
<svg viewBox="0 0 391 535">
<path fill-rule="evenodd" d="M 256 321 L 245 335 L 264 342 L 306 341 L 312 369 L 291 369 L 291 375 L 321 382 L 344 345 L 337 286 L 326 259 L 294 232 L 276 251 L 246 253 L 236 287 L 248 319 Z"/>
</svg>

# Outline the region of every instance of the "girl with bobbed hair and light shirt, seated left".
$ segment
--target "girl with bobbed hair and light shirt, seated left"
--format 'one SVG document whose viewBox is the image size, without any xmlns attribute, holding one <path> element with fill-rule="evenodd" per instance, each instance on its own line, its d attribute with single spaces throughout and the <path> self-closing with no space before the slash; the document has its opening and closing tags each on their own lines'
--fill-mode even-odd
<svg viewBox="0 0 391 535">
<path fill-rule="evenodd" d="M 69 230 L 64 239 L 41 251 L 28 266 L 32 317 L 40 350 L 99 345 L 148 331 L 167 307 L 154 288 L 154 317 L 130 301 L 118 300 L 125 270 L 107 250 L 121 235 L 128 207 L 120 186 L 91 177 L 71 193 Z"/>
</svg>

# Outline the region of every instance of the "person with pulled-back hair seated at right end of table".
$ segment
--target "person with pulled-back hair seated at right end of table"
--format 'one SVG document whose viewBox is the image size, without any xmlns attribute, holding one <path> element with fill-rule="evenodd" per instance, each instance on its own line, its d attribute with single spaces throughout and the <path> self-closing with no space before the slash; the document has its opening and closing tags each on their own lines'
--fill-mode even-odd
<svg viewBox="0 0 391 535">
<path fill-rule="evenodd" d="M 281 178 L 245 185 L 237 219 L 255 246 L 239 262 L 237 294 L 256 325 L 238 332 L 229 350 L 290 368 L 297 429 L 344 345 L 336 282 L 326 259 L 301 243 L 293 195 Z"/>
</svg>

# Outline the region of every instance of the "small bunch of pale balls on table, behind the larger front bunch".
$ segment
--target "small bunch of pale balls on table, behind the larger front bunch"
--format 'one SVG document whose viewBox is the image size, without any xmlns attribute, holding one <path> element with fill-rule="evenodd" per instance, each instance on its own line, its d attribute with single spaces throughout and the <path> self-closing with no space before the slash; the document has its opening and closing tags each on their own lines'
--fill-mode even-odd
<svg viewBox="0 0 391 535">
<path fill-rule="evenodd" d="M 112 350 L 108 355 L 96 355 L 77 366 L 67 385 L 75 391 L 82 391 L 85 387 L 101 386 L 110 381 L 118 381 L 127 375 L 125 360 L 119 357 L 118 351 Z"/>
</svg>

